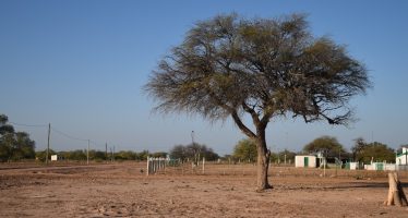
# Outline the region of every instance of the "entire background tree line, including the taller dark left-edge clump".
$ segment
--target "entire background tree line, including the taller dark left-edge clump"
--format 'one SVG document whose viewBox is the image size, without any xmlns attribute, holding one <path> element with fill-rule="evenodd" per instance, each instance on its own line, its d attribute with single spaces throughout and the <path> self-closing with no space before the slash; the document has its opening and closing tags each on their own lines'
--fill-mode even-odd
<svg viewBox="0 0 408 218">
<path fill-rule="evenodd" d="M 371 161 L 395 161 L 395 150 L 389 148 L 386 144 L 373 142 L 367 143 L 362 137 L 355 140 L 355 145 L 351 152 L 347 152 L 345 147 L 333 136 L 321 136 L 304 145 L 302 152 L 296 153 L 288 149 L 271 153 L 271 161 L 290 160 L 295 162 L 297 154 L 316 154 L 323 152 L 328 159 L 339 158 L 347 161 L 360 161 L 370 164 Z M 28 133 L 16 132 L 14 126 L 9 123 L 9 118 L 0 114 L 0 161 L 19 161 L 23 159 L 38 159 L 45 161 L 46 150 L 35 152 L 35 142 L 29 138 Z M 170 155 L 172 159 L 180 159 L 182 161 L 191 160 L 199 161 L 205 157 L 208 161 L 214 161 L 220 157 L 212 148 L 206 145 L 192 143 L 189 145 L 175 145 L 169 153 L 157 152 L 149 153 L 143 150 L 140 153 L 132 150 L 120 150 L 115 154 L 106 150 L 89 150 L 89 160 L 146 160 L 149 157 L 167 157 Z M 87 150 L 76 149 L 69 152 L 49 152 L 51 155 L 58 155 L 64 160 L 86 160 Z M 237 143 L 231 155 L 226 155 L 221 159 L 233 162 L 255 162 L 257 157 L 256 144 L 253 140 L 245 138 Z"/>
</svg>

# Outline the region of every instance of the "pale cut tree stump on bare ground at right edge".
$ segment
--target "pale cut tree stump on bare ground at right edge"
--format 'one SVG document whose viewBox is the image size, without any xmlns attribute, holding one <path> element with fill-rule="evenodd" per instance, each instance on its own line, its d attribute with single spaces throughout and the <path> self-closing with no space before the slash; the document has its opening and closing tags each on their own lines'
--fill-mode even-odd
<svg viewBox="0 0 408 218">
<path fill-rule="evenodd" d="M 404 194 L 403 186 L 398 180 L 398 175 L 396 172 L 388 173 L 388 197 L 384 202 L 384 205 L 391 206 L 396 204 L 400 207 L 407 206 L 407 197 Z"/>
</svg>

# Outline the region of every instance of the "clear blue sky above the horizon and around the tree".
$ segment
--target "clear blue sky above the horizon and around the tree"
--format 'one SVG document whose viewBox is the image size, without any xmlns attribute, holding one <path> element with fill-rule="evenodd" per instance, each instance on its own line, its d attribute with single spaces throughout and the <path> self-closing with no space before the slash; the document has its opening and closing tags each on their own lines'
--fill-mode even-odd
<svg viewBox="0 0 408 218">
<path fill-rule="evenodd" d="M 151 113 L 142 92 L 158 60 L 199 20 L 237 12 L 247 17 L 307 13 L 315 36 L 347 45 L 365 63 L 374 88 L 351 101 L 360 119 L 349 129 L 277 120 L 274 149 L 300 150 L 321 135 L 346 148 L 359 136 L 408 144 L 408 1 L 0 1 L 0 113 L 23 124 L 47 124 L 92 148 L 169 150 L 195 141 L 220 155 L 244 136 L 231 121 Z M 16 126 L 44 149 L 46 128 Z M 85 141 L 51 133 L 56 150 Z"/>
</svg>

